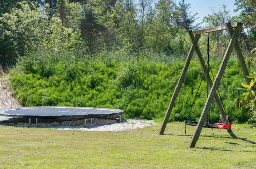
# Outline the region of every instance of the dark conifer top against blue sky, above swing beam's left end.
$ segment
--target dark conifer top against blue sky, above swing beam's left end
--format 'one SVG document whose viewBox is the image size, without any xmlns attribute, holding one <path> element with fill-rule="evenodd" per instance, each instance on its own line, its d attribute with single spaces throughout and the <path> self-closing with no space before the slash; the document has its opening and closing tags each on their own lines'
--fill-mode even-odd
<svg viewBox="0 0 256 169">
<path fill-rule="evenodd" d="M 193 25 L 195 20 L 198 19 L 198 17 L 196 17 L 198 13 L 191 15 L 192 12 L 189 12 L 190 8 L 191 8 L 191 4 L 185 3 L 185 0 L 182 0 L 179 2 L 178 11 L 179 11 L 180 18 L 178 19 L 178 26 L 183 29 L 186 29 L 187 31 L 198 29 L 199 25 L 201 24 L 201 23 L 198 23 Z"/>
</svg>

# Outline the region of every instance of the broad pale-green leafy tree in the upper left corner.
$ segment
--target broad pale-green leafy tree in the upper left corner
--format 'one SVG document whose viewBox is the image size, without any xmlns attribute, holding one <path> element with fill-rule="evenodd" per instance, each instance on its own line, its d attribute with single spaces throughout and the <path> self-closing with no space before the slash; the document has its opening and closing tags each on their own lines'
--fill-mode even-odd
<svg viewBox="0 0 256 169">
<path fill-rule="evenodd" d="M 22 1 L 0 17 L 0 57 L 2 65 L 14 64 L 18 56 L 36 50 L 80 49 L 80 30 L 65 28 L 60 17 L 49 19 L 46 9 Z M 81 44 L 81 45 L 80 45 Z"/>
</svg>

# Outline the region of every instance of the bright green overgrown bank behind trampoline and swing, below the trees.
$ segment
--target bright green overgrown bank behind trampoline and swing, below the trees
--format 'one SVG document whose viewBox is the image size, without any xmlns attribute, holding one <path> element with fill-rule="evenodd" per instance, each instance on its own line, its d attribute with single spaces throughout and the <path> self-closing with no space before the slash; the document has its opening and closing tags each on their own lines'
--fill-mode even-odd
<svg viewBox="0 0 256 169">
<path fill-rule="evenodd" d="M 184 65 L 183 61 L 170 60 L 175 59 L 153 54 L 131 57 L 122 53 L 101 53 L 79 57 L 72 52 L 36 52 L 20 59 L 10 75 L 14 95 L 24 106 L 118 108 L 125 110 L 125 118 L 162 119 Z M 219 61 L 211 62 L 214 75 L 219 65 Z M 192 61 L 170 121 L 186 119 L 202 73 L 199 63 Z M 249 114 L 237 109 L 234 102 L 241 95 L 241 91 L 235 88 L 242 82 L 237 61 L 230 60 L 224 76 L 221 94 L 230 120 L 245 122 Z M 200 116 L 206 98 L 207 82 L 204 78 L 191 120 Z M 210 109 L 210 118 L 215 122 L 219 120 L 215 102 Z"/>
</svg>

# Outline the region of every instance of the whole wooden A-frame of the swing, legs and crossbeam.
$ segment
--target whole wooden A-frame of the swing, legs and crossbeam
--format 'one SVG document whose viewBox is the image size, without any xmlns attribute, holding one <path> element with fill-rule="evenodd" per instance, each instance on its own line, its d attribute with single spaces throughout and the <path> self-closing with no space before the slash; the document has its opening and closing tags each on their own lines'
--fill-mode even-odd
<svg viewBox="0 0 256 169">
<path fill-rule="evenodd" d="M 205 71 L 205 77 L 206 77 L 206 79 L 209 79 L 208 82 L 209 82 L 209 85 L 210 85 L 211 89 L 210 89 L 210 93 L 208 95 L 208 98 L 206 100 L 206 103 L 204 105 L 204 109 L 203 109 L 203 111 L 201 113 L 201 117 L 199 119 L 199 122 L 196 125 L 196 129 L 194 131 L 193 137 L 192 137 L 191 142 L 189 144 L 189 148 L 194 148 L 196 142 L 198 141 L 199 135 L 200 135 L 201 130 L 203 128 L 203 124 L 204 124 L 205 119 L 207 117 L 207 113 L 209 112 L 210 105 L 211 105 L 211 103 L 213 101 L 213 98 L 215 99 L 215 101 L 216 101 L 216 103 L 218 105 L 219 111 L 221 112 L 222 121 L 226 121 L 226 114 L 225 114 L 225 111 L 224 111 L 224 109 L 222 107 L 220 98 L 216 94 L 216 90 L 217 90 L 217 88 L 219 86 L 221 78 L 222 78 L 222 76 L 224 74 L 224 71 L 225 71 L 225 69 L 227 67 L 227 63 L 228 63 L 230 55 L 231 55 L 231 53 L 233 51 L 233 48 L 235 49 L 235 53 L 236 53 L 237 58 L 239 60 L 239 64 L 240 64 L 240 67 L 242 68 L 242 72 L 244 74 L 246 82 L 247 82 L 247 84 L 250 83 L 250 79 L 247 77 L 247 76 L 249 76 L 249 71 L 248 71 L 248 69 L 246 67 L 246 64 L 245 64 L 245 61 L 244 61 L 244 58 L 243 58 L 243 55 L 242 55 L 242 52 L 241 52 L 241 48 L 238 45 L 238 38 L 239 38 L 239 35 L 241 33 L 242 26 L 243 26 L 243 23 L 241 23 L 241 22 L 234 22 L 234 23 L 228 22 L 225 25 L 221 25 L 221 26 L 217 26 L 217 27 L 213 27 L 213 28 L 208 28 L 208 29 L 189 31 L 188 32 L 188 34 L 190 36 L 190 39 L 192 41 L 192 45 L 191 45 L 191 48 L 189 50 L 189 53 L 188 53 L 185 65 L 184 65 L 182 73 L 181 73 L 181 76 L 180 76 L 180 78 L 178 80 L 178 83 L 177 83 L 176 88 L 174 90 L 174 93 L 172 95 L 171 101 L 169 103 L 169 107 L 168 107 L 168 109 L 166 111 L 166 114 L 165 114 L 165 117 L 164 117 L 164 121 L 163 121 L 163 123 L 161 125 L 161 129 L 159 131 L 160 135 L 164 134 L 164 131 L 165 131 L 165 128 L 166 128 L 166 124 L 167 124 L 167 122 L 169 120 L 172 108 L 174 107 L 176 98 L 177 98 L 177 96 L 179 94 L 179 91 L 181 89 L 183 80 L 185 78 L 185 75 L 186 75 L 186 72 L 188 70 L 188 66 L 190 64 L 190 61 L 191 61 L 192 56 L 194 54 L 194 51 L 198 55 L 198 58 L 199 58 L 199 61 L 200 61 L 202 69 L 206 70 Z M 203 34 L 203 33 L 210 33 L 210 32 L 216 32 L 216 31 L 221 31 L 221 30 L 228 30 L 228 33 L 230 35 L 230 41 L 229 41 L 228 47 L 226 49 L 225 55 L 223 57 L 223 60 L 221 62 L 221 66 L 220 66 L 220 68 L 218 70 L 218 73 L 216 74 L 215 80 L 212 82 L 212 79 L 211 79 L 211 77 L 209 75 L 209 71 L 206 68 L 205 61 L 204 61 L 203 56 L 202 56 L 202 54 L 200 52 L 200 49 L 198 47 L 198 41 L 199 41 L 200 35 Z M 195 36 L 194 36 L 194 34 L 195 34 Z M 227 131 L 229 133 L 232 132 L 231 129 L 227 129 Z"/>
</svg>

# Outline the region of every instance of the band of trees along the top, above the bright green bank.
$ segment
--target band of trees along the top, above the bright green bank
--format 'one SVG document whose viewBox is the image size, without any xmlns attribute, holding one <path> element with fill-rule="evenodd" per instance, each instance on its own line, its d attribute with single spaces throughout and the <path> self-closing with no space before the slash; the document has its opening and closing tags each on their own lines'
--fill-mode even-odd
<svg viewBox="0 0 256 169">
<path fill-rule="evenodd" d="M 197 13 L 185 0 L 11 0 L 0 2 L 0 64 L 15 64 L 35 50 L 73 50 L 82 55 L 102 51 L 127 54 L 152 51 L 180 57 L 187 53 L 187 31 L 199 29 Z M 207 27 L 242 21 L 248 49 L 255 41 L 255 5 L 235 2 L 237 16 L 226 6 L 204 17 Z M 218 38 L 218 36 L 215 36 Z"/>
</svg>

